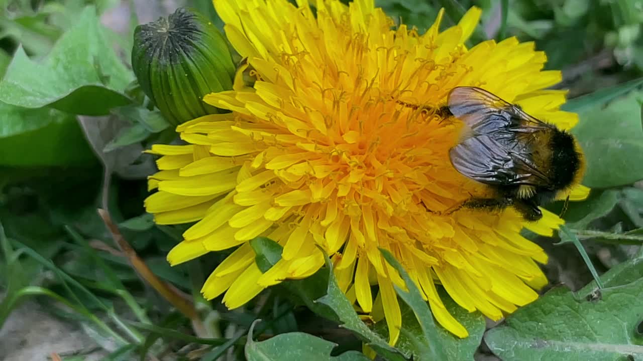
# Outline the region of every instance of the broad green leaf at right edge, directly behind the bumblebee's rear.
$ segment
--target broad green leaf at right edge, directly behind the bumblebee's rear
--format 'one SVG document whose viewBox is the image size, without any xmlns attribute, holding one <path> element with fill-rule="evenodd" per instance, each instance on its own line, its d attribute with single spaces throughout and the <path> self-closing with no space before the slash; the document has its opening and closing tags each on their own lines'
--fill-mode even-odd
<svg viewBox="0 0 643 361">
<path fill-rule="evenodd" d="M 572 129 L 587 160 L 583 184 L 611 188 L 643 179 L 643 130 L 640 104 L 643 92 L 631 92 L 602 109 L 599 105 L 580 114 Z"/>
</svg>

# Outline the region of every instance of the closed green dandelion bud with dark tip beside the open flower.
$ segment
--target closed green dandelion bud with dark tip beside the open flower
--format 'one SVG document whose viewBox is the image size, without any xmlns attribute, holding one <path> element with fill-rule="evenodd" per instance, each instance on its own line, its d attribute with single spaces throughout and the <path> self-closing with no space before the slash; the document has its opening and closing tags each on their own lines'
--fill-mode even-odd
<svg viewBox="0 0 643 361">
<path fill-rule="evenodd" d="M 136 27 L 132 67 L 143 92 L 173 125 L 219 112 L 203 96 L 232 89 L 235 73 L 221 32 L 188 8 Z"/>
</svg>

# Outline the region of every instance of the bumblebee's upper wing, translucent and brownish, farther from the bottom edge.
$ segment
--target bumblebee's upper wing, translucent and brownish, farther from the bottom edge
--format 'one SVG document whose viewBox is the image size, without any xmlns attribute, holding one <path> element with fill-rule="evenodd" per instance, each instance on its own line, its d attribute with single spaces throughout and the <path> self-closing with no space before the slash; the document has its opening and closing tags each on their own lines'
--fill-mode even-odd
<svg viewBox="0 0 643 361">
<path fill-rule="evenodd" d="M 448 97 L 449 110 L 475 134 L 492 134 L 502 130 L 536 132 L 550 125 L 523 112 L 491 92 L 476 87 L 455 87 Z"/>
</svg>

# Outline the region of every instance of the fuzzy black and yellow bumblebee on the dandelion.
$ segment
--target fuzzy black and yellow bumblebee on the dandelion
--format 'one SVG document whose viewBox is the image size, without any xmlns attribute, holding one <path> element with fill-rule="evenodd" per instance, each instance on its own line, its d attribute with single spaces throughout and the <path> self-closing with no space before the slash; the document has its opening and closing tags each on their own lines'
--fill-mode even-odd
<svg viewBox="0 0 643 361">
<path fill-rule="evenodd" d="M 491 190 L 489 198 L 471 197 L 448 213 L 511 206 L 525 220 L 536 221 L 543 216 L 539 206 L 581 182 L 583 151 L 565 130 L 477 87 L 452 89 L 439 111 L 446 109 L 465 126 L 449 150 L 453 168 Z"/>
</svg>

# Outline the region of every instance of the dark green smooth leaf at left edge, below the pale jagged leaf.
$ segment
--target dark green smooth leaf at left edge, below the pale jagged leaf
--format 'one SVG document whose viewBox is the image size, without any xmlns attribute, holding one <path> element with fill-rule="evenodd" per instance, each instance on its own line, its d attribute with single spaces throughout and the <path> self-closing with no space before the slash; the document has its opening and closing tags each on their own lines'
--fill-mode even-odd
<svg viewBox="0 0 643 361">
<path fill-rule="evenodd" d="M 96 157 L 70 114 L 0 103 L 0 165 L 87 166 L 95 163 Z"/>
</svg>

